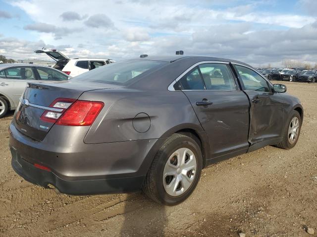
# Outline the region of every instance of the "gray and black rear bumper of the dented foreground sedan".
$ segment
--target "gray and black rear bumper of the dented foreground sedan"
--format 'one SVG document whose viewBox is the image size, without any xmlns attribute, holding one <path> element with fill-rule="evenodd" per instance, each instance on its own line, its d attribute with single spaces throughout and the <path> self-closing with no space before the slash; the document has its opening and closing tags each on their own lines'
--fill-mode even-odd
<svg viewBox="0 0 317 237">
<path fill-rule="evenodd" d="M 49 146 L 33 141 L 10 125 L 12 167 L 25 180 L 48 184 L 72 195 L 126 193 L 142 188 L 145 175 L 164 139 Z M 52 141 L 50 141 L 52 143 Z M 40 164 L 51 169 L 35 167 Z"/>
</svg>

